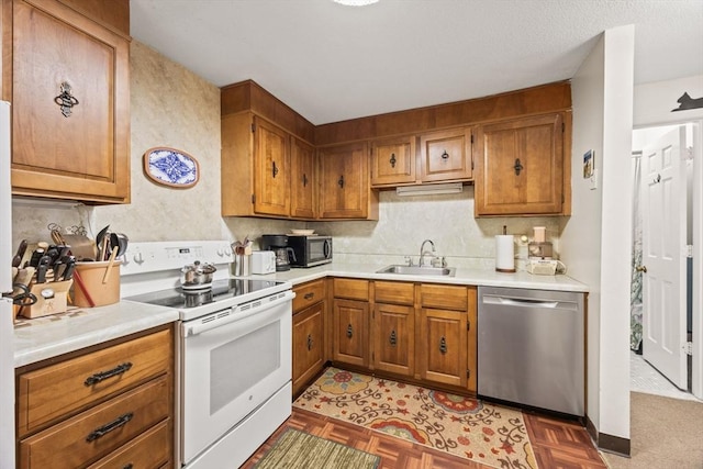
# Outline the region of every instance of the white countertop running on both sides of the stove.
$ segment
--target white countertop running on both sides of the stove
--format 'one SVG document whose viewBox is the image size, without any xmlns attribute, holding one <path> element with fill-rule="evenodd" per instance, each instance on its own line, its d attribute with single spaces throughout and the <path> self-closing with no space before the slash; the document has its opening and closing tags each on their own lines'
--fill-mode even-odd
<svg viewBox="0 0 703 469">
<path fill-rule="evenodd" d="M 290 281 L 293 286 L 330 276 L 369 280 L 436 282 L 484 287 L 526 288 L 588 292 L 588 286 L 567 276 L 534 276 L 525 271 L 501 273 L 493 270 L 457 268 L 455 277 L 376 273 L 384 266 L 326 264 L 309 269 L 252 276 Z M 14 327 L 14 366 L 22 367 L 80 348 L 123 337 L 178 321 L 170 308 L 121 301 L 109 306 L 76 309 L 67 313 L 22 320 Z"/>
</svg>

